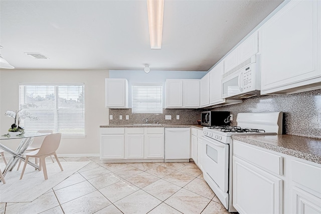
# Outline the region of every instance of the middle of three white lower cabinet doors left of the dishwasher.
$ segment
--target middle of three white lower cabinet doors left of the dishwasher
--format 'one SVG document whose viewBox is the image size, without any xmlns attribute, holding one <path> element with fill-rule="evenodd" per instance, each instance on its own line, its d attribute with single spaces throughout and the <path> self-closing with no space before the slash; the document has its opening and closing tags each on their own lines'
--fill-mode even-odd
<svg viewBox="0 0 321 214">
<path fill-rule="evenodd" d="M 128 134 L 125 142 L 126 158 L 143 158 L 144 157 L 144 135 Z"/>
</svg>

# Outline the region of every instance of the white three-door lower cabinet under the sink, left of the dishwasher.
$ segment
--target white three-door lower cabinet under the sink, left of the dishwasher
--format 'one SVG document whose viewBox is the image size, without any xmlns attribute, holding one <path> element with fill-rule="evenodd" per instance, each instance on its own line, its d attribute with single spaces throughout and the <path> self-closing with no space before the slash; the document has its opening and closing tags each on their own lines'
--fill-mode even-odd
<svg viewBox="0 0 321 214">
<path fill-rule="evenodd" d="M 103 162 L 164 161 L 164 128 L 101 128 Z"/>
</svg>

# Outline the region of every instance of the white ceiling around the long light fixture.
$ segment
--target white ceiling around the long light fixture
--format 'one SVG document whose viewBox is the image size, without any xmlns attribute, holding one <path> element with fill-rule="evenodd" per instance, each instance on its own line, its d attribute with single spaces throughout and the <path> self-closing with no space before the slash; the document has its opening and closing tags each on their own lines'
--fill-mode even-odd
<svg viewBox="0 0 321 214">
<path fill-rule="evenodd" d="M 1 54 L 16 69 L 208 71 L 281 2 L 165 0 L 151 50 L 146 1 L 1 0 Z"/>
</svg>

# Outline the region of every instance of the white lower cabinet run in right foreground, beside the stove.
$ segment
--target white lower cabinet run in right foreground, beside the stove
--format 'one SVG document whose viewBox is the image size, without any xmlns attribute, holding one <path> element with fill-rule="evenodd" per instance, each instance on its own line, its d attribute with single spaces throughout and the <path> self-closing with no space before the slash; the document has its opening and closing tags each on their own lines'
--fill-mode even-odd
<svg viewBox="0 0 321 214">
<path fill-rule="evenodd" d="M 233 206 L 241 214 L 321 214 L 321 164 L 233 140 Z"/>
</svg>

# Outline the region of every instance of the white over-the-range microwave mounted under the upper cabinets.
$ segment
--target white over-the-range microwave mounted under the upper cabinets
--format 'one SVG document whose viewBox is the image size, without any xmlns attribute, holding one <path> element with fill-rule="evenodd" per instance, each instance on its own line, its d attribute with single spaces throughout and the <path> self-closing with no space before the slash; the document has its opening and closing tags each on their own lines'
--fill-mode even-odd
<svg viewBox="0 0 321 214">
<path fill-rule="evenodd" d="M 260 55 L 222 75 L 222 98 L 243 99 L 260 95 Z"/>
</svg>

